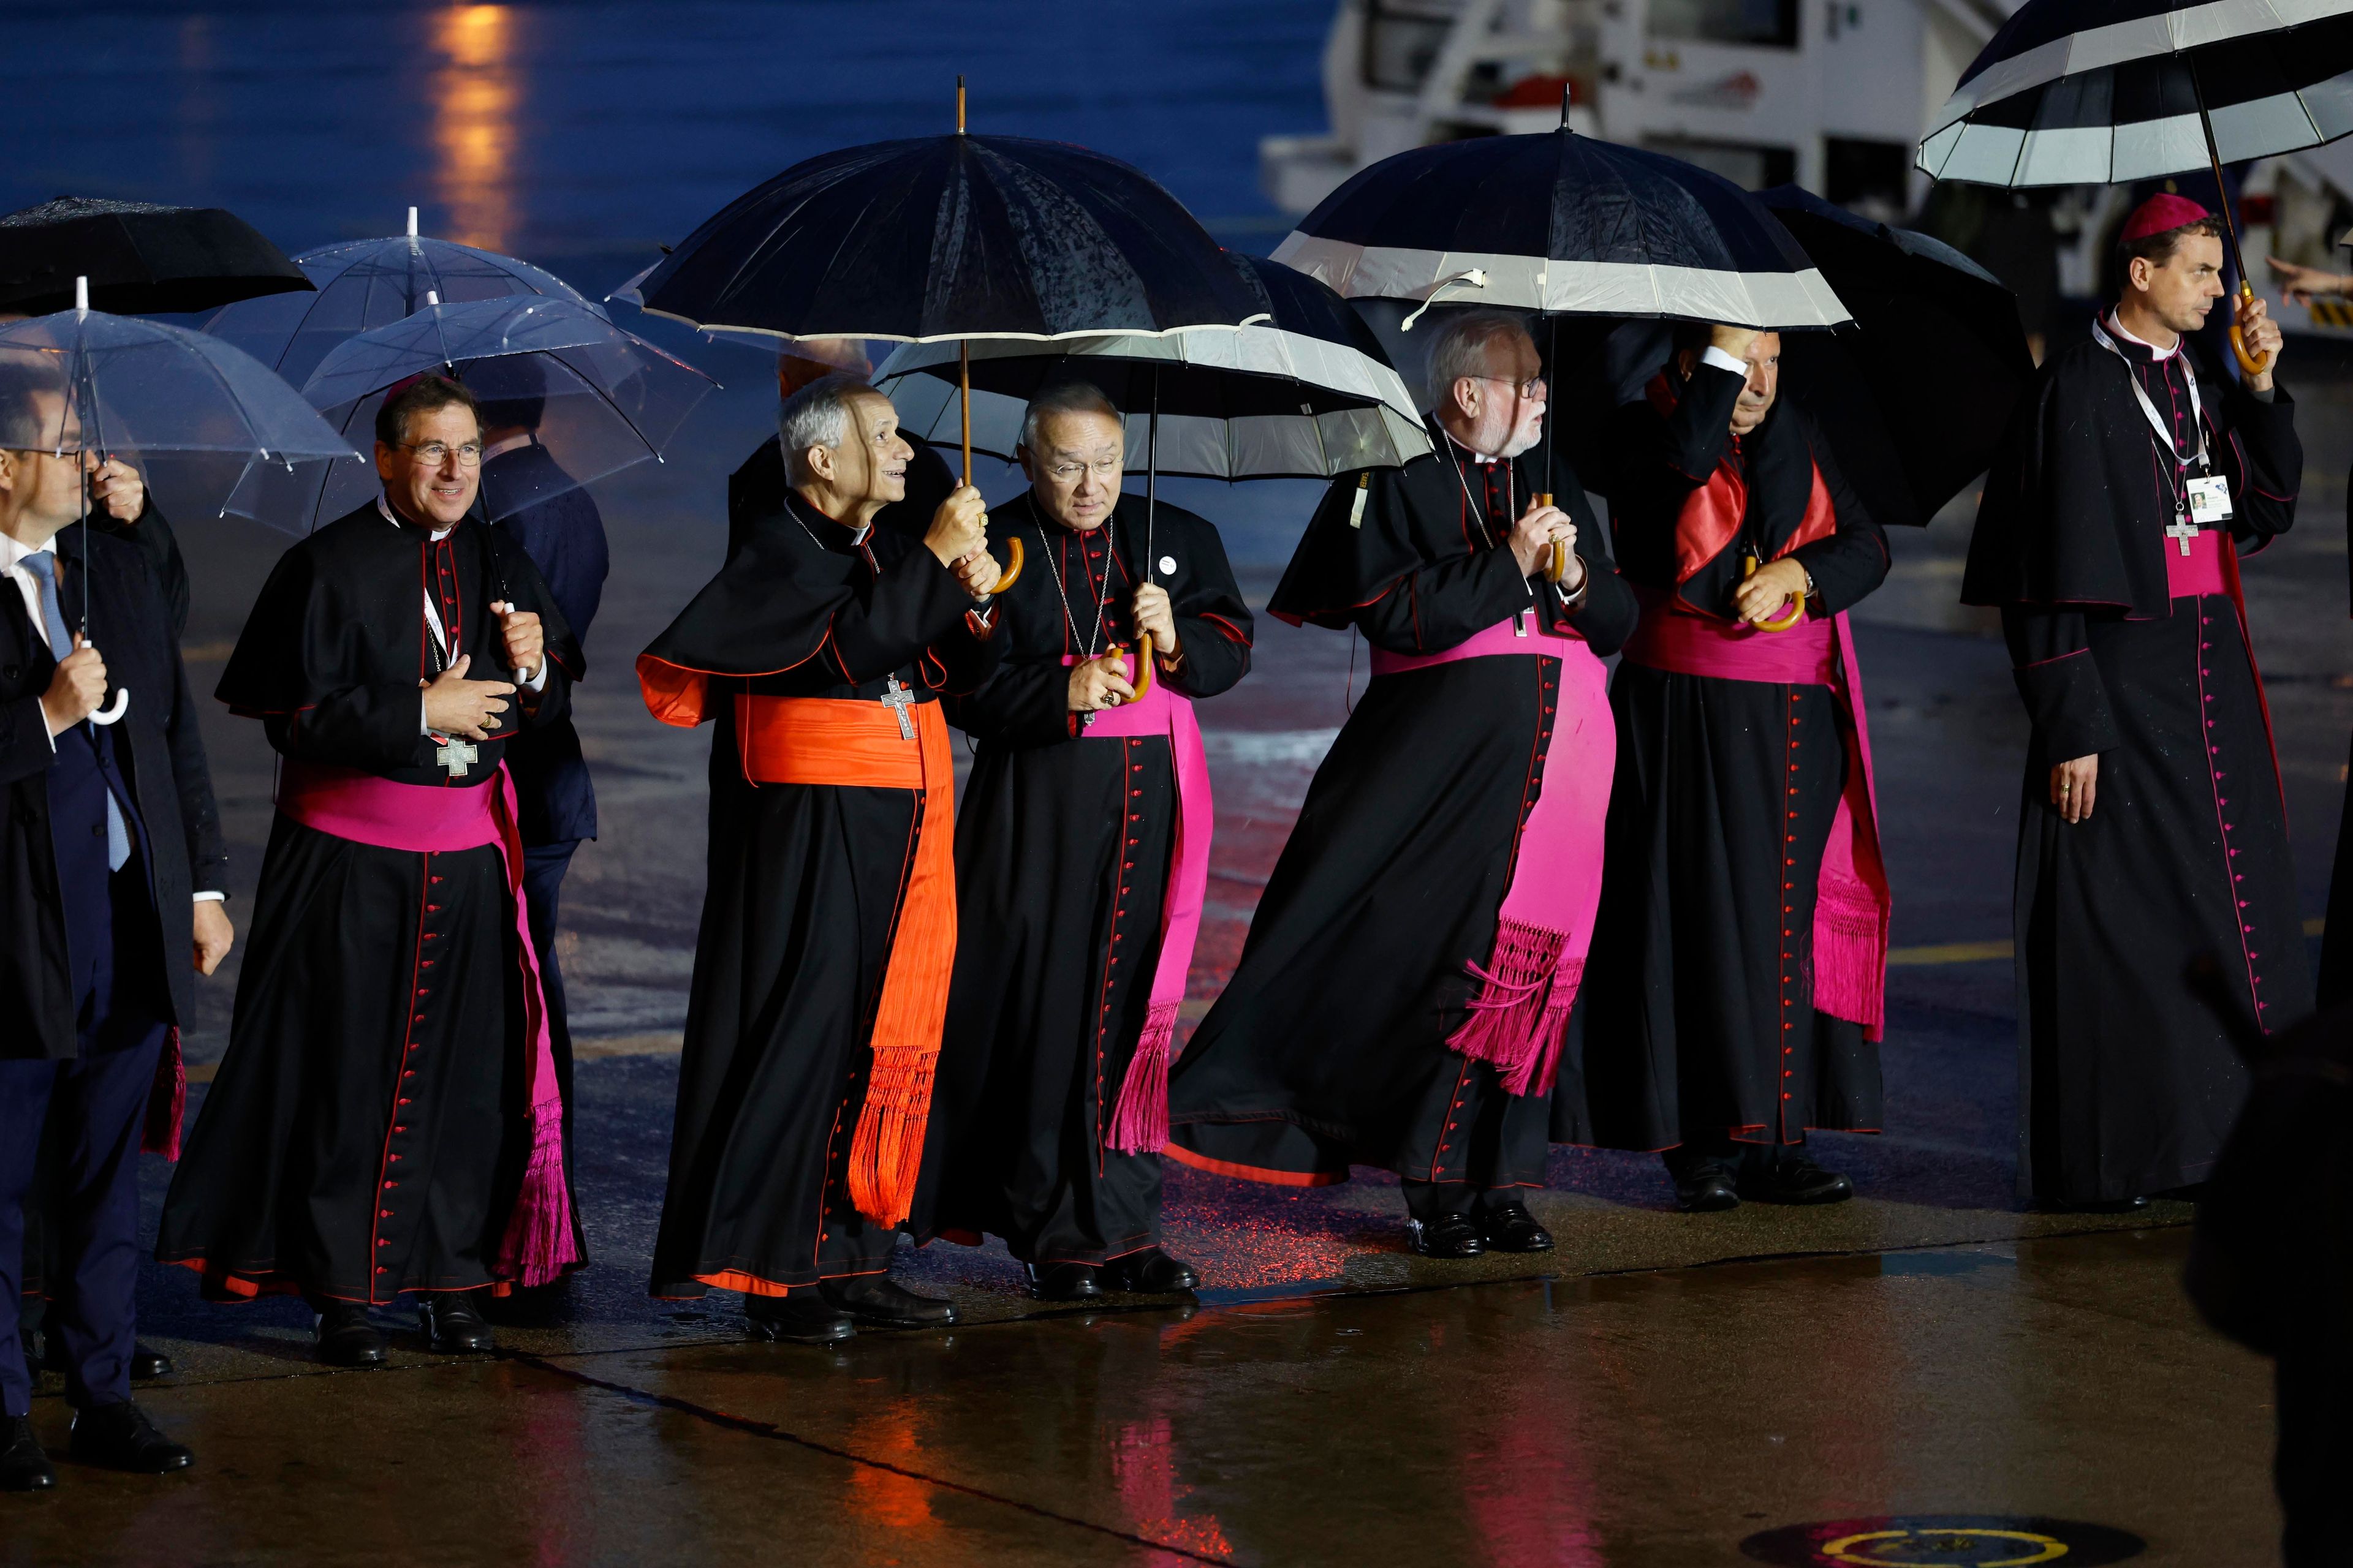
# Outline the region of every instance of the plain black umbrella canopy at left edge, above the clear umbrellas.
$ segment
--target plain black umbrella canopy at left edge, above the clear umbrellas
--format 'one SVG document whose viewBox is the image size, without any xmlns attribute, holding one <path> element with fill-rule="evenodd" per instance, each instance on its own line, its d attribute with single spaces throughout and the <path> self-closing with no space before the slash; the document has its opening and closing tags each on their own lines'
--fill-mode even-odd
<svg viewBox="0 0 2353 1568">
<path fill-rule="evenodd" d="M 252 223 L 219 207 L 158 207 L 61 195 L 0 219 L 0 310 L 73 306 L 73 280 L 120 315 L 212 310 L 311 280 Z"/>
</svg>

